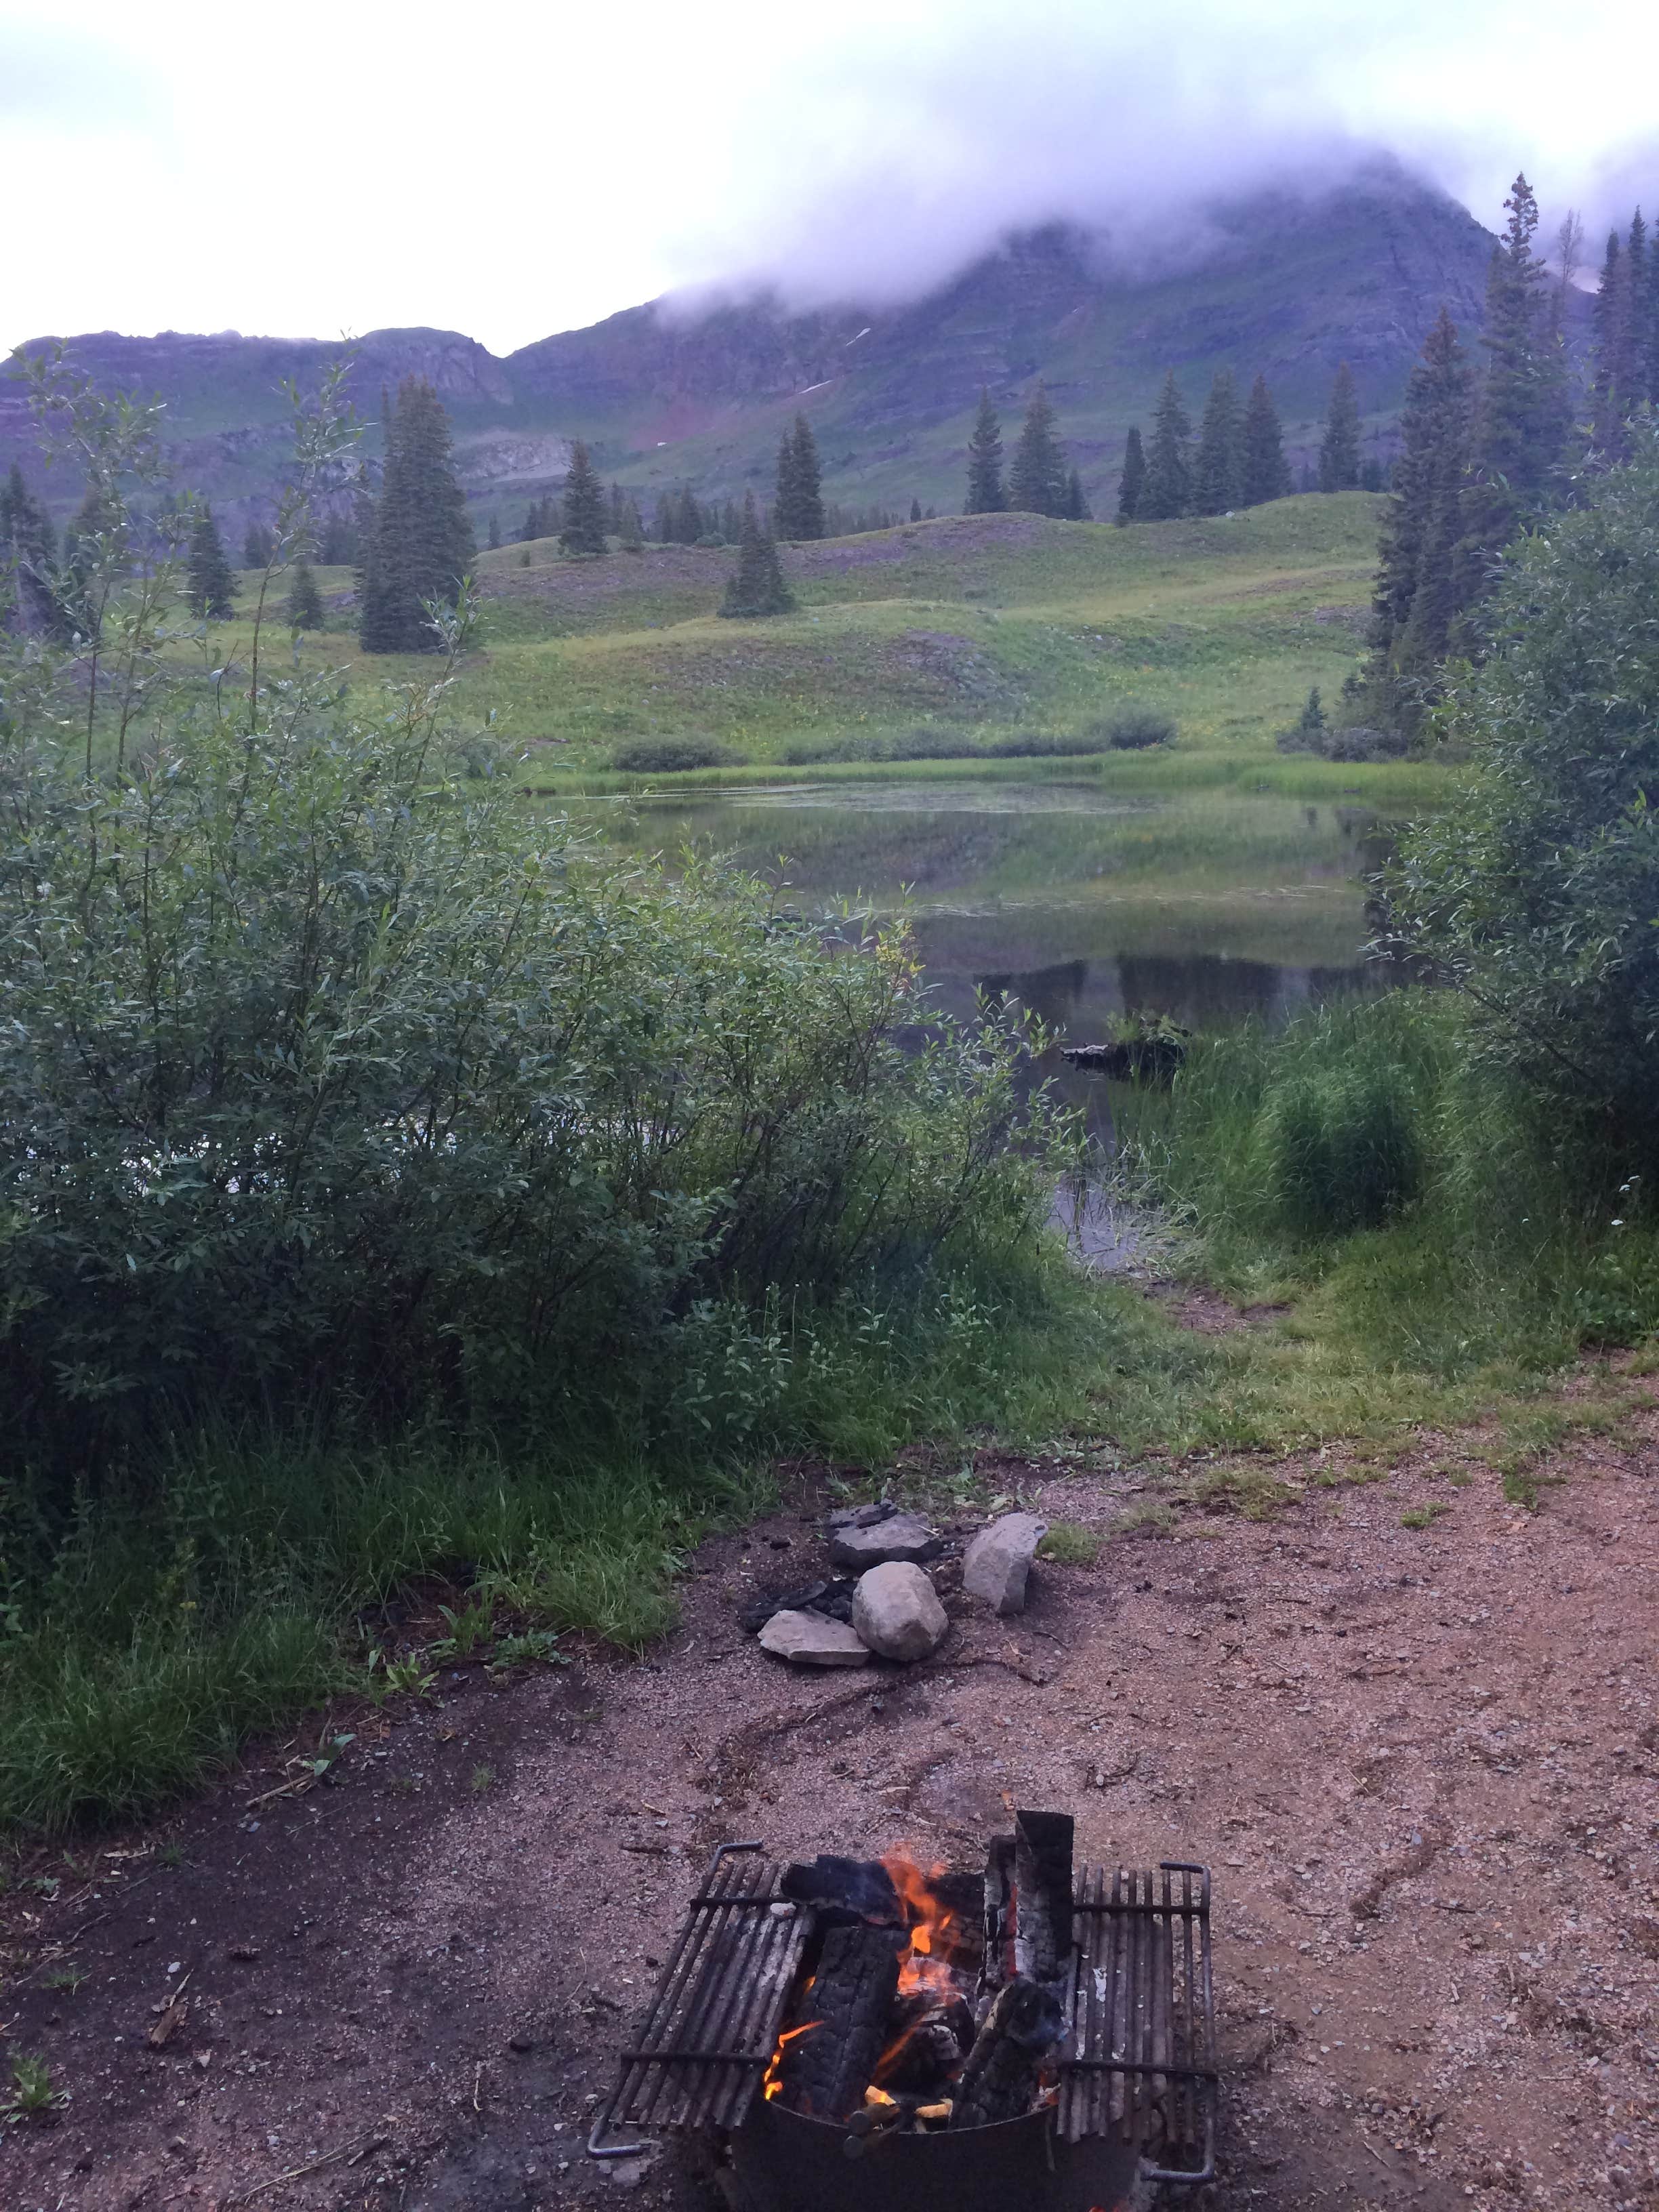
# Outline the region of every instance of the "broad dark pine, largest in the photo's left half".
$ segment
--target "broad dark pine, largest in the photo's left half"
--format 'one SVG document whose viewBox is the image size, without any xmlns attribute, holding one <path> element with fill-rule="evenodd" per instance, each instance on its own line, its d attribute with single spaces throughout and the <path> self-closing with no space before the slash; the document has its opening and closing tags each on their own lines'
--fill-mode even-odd
<svg viewBox="0 0 1659 2212">
<path fill-rule="evenodd" d="M 434 653 L 429 599 L 456 604 L 476 553 L 467 495 L 449 458 L 449 416 L 425 378 L 405 376 L 387 429 L 385 478 L 374 504 L 367 591 L 358 602 L 365 653 Z"/>
</svg>

